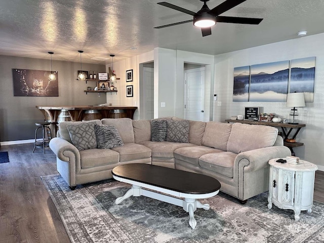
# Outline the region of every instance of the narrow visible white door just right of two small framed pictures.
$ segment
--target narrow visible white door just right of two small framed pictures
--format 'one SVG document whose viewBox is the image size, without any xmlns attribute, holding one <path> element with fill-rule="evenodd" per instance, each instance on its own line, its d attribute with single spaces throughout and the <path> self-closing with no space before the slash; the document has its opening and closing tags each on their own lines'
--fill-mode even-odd
<svg viewBox="0 0 324 243">
<path fill-rule="evenodd" d="M 154 68 L 143 67 L 144 119 L 154 118 Z"/>
</svg>

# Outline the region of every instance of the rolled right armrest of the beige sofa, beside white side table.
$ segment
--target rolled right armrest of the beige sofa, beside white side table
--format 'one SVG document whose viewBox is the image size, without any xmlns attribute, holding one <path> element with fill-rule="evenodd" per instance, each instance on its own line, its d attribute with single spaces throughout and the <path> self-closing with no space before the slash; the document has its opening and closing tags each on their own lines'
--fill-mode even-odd
<svg viewBox="0 0 324 243">
<path fill-rule="evenodd" d="M 271 146 L 241 152 L 234 160 L 234 175 L 235 171 L 240 169 L 252 172 L 266 168 L 270 159 L 289 155 L 291 155 L 291 151 L 286 146 Z"/>
</svg>

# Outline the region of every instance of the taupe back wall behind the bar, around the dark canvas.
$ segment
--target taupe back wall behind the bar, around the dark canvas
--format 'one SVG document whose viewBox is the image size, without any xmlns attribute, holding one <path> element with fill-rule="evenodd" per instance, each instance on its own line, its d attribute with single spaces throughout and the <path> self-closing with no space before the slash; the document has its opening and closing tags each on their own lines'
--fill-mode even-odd
<svg viewBox="0 0 324 243">
<path fill-rule="evenodd" d="M 54 54 L 55 55 L 55 54 Z M 35 123 L 44 120 L 36 105 L 95 105 L 106 102 L 106 95 L 86 93 L 87 86 L 95 87 L 95 82 L 76 80 L 80 63 L 52 61 L 53 71 L 58 71 L 58 97 L 18 97 L 14 96 L 12 68 L 51 70 L 49 59 L 34 59 L 0 55 L 0 141 L 29 140 L 34 137 Z M 83 63 L 83 70 L 105 72 L 105 65 Z M 91 83 L 91 84 L 90 84 Z M 6 142 L 4 142 L 6 141 Z M 21 141 L 22 142 L 22 141 Z"/>
</svg>

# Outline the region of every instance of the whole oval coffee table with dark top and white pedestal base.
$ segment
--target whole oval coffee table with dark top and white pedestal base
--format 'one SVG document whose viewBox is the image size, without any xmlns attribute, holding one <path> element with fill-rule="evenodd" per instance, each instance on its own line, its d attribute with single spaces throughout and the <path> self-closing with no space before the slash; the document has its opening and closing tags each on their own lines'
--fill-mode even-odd
<svg viewBox="0 0 324 243">
<path fill-rule="evenodd" d="M 116 204 L 120 204 L 130 196 L 141 195 L 165 201 L 180 206 L 189 213 L 189 225 L 192 229 L 197 225 L 193 212 L 197 208 L 205 210 L 210 208 L 208 204 L 201 204 L 196 199 L 215 196 L 221 187 L 219 181 L 210 176 L 148 164 L 117 166 L 112 170 L 112 176 L 117 181 L 132 185 L 124 196 L 116 198 Z M 184 200 L 173 196 L 183 197 Z"/>
</svg>

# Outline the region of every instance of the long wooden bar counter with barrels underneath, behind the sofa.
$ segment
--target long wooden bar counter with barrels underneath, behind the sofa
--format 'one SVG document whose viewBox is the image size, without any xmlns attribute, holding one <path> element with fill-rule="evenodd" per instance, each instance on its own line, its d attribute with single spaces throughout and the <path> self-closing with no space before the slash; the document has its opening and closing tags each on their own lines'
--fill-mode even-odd
<svg viewBox="0 0 324 243">
<path fill-rule="evenodd" d="M 111 114 L 115 110 L 125 110 L 123 117 L 133 119 L 137 106 L 41 106 L 36 105 L 36 108 L 42 111 L 46 120 L 56 123 L 62 110 L 67 110 L 72 121 L 83 120 L 86 110 L 99 110 L 102 118 L 117 118 Z M 114 110 L 114 111 L 111 111 Z"/>
</svg>

